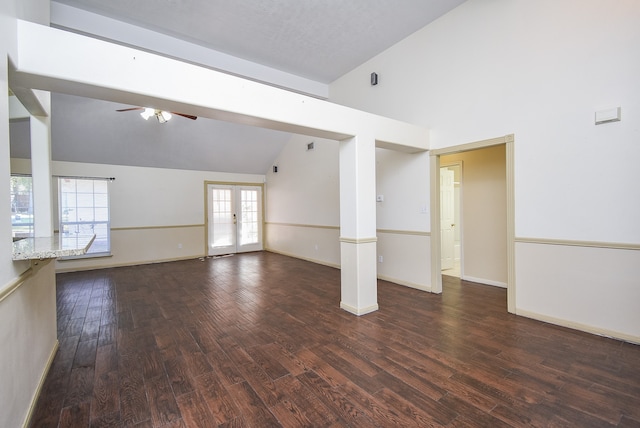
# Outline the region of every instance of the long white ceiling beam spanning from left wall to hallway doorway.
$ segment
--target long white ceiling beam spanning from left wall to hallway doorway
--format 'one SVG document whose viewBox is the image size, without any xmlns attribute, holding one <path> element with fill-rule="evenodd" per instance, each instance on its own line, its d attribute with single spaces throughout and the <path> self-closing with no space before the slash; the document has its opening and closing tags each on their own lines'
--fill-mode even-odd
<svg viewBox="0 0 640 428">
<path fill-rule="evenodd" d="M 208 68 L 18 21 L 11 86 L 343 140 L 371 135 L 389 149 L 429 149 L 428 130 Z"/>
</svg>

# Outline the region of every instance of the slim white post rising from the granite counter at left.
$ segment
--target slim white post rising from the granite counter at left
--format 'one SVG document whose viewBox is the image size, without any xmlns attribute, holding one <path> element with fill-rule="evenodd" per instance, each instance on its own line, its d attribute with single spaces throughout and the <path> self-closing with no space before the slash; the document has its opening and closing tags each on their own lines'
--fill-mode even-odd
<svg viewBox="0 0 640 428">
<path fill-rule="evenodd" d="M 30 123 L 34 230 L 36 237 L 49 237 L 53 236 L 51 120 L 50 117 L 31 116 Z"/>
</svg>

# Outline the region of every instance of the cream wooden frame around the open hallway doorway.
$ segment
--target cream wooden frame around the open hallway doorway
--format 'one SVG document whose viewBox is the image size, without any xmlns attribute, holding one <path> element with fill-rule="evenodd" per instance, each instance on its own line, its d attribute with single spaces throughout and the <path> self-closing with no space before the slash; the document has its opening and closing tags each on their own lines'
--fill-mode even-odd
<svg viewBox="0 0 640 428">
<path fill-rule="evenodd" d="M 514 193 L 514 142 L 513 134 L 458 146 L 430 150 L 431 192 L 431 291 L 442 293 L 440 234 L 440 156 L 504 144 L 506 148 L 507 187 L 507 311 L 516 313 L 515 283 L 515 193 Z"/>
</svg>

